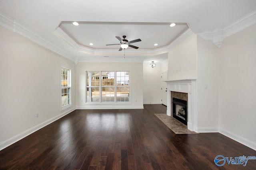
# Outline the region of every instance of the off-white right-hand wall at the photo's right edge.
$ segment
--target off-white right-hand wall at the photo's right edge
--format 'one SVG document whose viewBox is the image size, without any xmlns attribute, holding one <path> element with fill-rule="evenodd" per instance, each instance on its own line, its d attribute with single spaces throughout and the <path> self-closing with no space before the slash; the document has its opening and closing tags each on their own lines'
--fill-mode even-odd
<svg viewBox="0 0 256 170">
<path fill-rule="evenodd" d="M 256 150 L 256 24 L 225 38 L 220 53 L 220 130 Z"/>
</svg>

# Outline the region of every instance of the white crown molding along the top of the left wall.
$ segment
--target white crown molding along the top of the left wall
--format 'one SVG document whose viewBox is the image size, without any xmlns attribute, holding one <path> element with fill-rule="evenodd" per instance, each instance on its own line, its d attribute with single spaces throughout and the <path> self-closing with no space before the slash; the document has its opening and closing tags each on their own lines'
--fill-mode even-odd
<svg viewBox="0 0 256 170">
<path fill-rule="evenodd" d="M 62 49 L 56 47 L 56 45 L 53 45 L 46 39 L 42 38 L 40 35 L 38 35 L 34 31 L 28 29 L 27 27 L 24 27 L 18 21 L 15 21 L 12 18 L 4 15 L 2 12 L 0 12 L 0 25 L 12 32 L 18 33 L 23 37 L 30 39 L 30 41 L 33 41 L 34 43 L 37 43 L 38 45 L 41 45 L 46 49 L 49 49 L 59 55 L 62 55 L 63 57 L 66 57 L 67 59 L 74 61 L 74 57 L 72 57 Z"/>
</svg>

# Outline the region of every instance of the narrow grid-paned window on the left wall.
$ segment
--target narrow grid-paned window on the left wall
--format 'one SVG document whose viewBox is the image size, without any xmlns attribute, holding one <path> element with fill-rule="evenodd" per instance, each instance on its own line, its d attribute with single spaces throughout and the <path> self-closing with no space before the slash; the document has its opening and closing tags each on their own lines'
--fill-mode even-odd
<svg viewBox="0 0 256 170">
<path fill-rule="evenodd" d="M 61 68 L 61 106 L 65 107 L 71 104 L 71 86 L 70 69 Z"/>
</svg>

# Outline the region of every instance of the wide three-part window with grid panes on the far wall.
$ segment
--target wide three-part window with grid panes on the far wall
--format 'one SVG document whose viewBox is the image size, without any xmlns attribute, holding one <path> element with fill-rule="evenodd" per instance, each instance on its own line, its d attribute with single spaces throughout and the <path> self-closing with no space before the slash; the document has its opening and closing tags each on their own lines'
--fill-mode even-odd
<svg viewBox="0 0 256 170">
<path fill-rule="evenodd" d="M 86 102 L 129 102 L 129 71 L 87 71 Z"/>
</svg>

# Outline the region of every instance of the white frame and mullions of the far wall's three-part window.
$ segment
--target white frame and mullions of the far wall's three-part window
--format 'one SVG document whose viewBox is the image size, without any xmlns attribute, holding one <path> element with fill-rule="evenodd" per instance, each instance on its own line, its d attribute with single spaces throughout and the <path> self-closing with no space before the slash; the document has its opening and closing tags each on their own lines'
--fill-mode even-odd
<svg viewBox="0 0 256 170">
<path fill-rule="evenodd" d="M 88 98 L 87 98 L 87 92 L 88 92 L 88 88 L 94 88 L 95 86 L 88 86 L 87 84 L 87 76 L 88 76 L 88 72 L 100 72 L 100 86 L 97 86 L 99 88 L 99 94 L 100 94 L 100 98 L 98 102 L 88 102 Z M 105 102 L 102 101 L 102 88 L 104 87 L 109 87 L 109 86 L 102 86 L 102 72 L 114 72 L 114 101 L 112 102 Z M 129 72 L 129 95 L 128 95 L 128 101 L 117 101 L 117 92 L 116 89 L 118 88 L 118 86 L 116 85 L 116 72 Z M 85 103 L 84 104 L 131 104 L 131 81 L 130 81 L 130 70 L 86 70 L 85 72 Z M 111 86 L 112 87 L 112 86 Z"/>
</svg>

